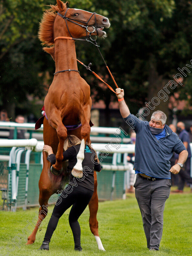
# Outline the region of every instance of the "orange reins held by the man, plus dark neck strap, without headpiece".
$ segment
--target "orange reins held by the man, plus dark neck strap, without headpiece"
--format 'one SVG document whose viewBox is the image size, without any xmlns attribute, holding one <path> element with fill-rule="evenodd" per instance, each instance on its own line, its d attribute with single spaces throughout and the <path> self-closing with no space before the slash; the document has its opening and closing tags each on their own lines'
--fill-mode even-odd
<svg viewBox="0 0 192 256">
<path fill-rule="evenodd" d="M 73 38 L 73 37 L 56 37 L 56 38 L 54 39 L 54 43 L 55 43 L 55 41 L 56 41 L 57 39 L 69 39 L 69 40 L 77 40 L 77 39 L 78 39 L 78 40 L 79 40 L 80 38 Z M 85 40 L 85 39 L 82 39 L 82 40 Z M 93 40 L 93 41 L 95 41 L 95 40 Z M 96 41 L 95 41 L 94 45 L 97 46 L 97 49 L 98 49 L 98 51 L 99 51 L 99 48 L 98 48 L 98 45 L 97 45 Z M 99 53 L 100 53 L 100 55 L 101 55 L 101 57 L 102 57 L 102 59 L 103 59 L 103 56 L 102 56 L 102 54 L 101 54 L 100 51 L 99 51 Z M 78 59 L 77 59 L 77 61 L 78 61 L 79 63 L 81 63 L 84 67 L 86 67 L 86 69 L 90 70 L 90 71 L 93 73 L 93 75 L 95 75 L 95 76 L 96 76 L 99 80 L 101 80 L 104 84 L 106 84 L 106 86 L 107 86 L 111 91 L 113 91 L 115 94 L 117 94 L 109 84 L 107 84 L 105 81 L 103 81 L 103 79 L 102 79 L 99 75 L 97 75 L 95 72 L 93 72 L 93 71 L 90 69 L 91 63 L 89 63 L 89 65 L 86 66 L 85 64 L 83 64 L 83 62 L 79 61 Z M 104 59 L 103 59 L 103 61 L 105 62 Z M 119 87 L 117 86 L 116 81 L 115 81 L 115 79 L 114 79 L 112 73 L 110 72 L 110 70 L 109 70 L 109 68 L 108 68 L 108 66 L 107 66 L 107 64 L 106 64 L 106 62 L 105 62 L 105 65 L 106 65 L 106 68 L 107 68 L 108 71 L 109 71 L 109 74 L 110 74 L 111 78 L 113 79 L 114 84 L 116 85 L 117 88 L 119 88 Z M 58 71 L 58 72 L 56 72 L 56 73 L 65 72 L 65 71 L 76 71 L 76 72 L 79 72 L 78 70 L 75 70 L 75 69 L 67 69 L 67 70 Z M 55 75 L 56 73 L 54 73 L 54 75 Z"/>
</svg>

